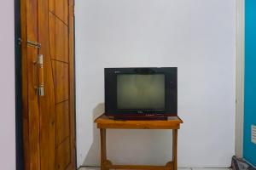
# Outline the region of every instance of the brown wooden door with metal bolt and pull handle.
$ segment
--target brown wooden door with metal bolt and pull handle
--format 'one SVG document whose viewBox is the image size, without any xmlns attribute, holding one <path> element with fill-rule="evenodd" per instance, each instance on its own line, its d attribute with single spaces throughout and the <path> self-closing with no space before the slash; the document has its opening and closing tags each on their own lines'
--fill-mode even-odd
<svg viewBox="0 0 256 170">
<path fill-rule="evenodd" d="M 20 0 L 20 9 L 26 170 L 75 169 L 73 0 Z"/>
</svg>

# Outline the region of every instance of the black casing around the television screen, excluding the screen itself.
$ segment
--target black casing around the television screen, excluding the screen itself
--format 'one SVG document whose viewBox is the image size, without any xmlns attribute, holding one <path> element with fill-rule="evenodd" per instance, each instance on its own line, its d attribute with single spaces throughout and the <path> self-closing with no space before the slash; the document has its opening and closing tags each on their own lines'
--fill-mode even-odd
<svg viewBox="0 0 256 170">
<path fill-rule="evenodd" d="M 164 74 L 166 88 L 165 109 L 118 109 L 117 108 L 117 75 L 118 74 Z M 105 68 L 105 115 L 118 119 L 137 119 L 177 116 L 177 67 L 133 67 Z"/>
</svg>

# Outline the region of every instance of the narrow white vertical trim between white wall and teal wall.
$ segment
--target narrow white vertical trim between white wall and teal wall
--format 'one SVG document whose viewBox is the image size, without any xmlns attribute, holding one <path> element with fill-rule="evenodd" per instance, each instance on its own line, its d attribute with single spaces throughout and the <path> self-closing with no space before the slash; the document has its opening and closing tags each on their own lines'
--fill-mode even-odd
<svg viewBox="0 0 256 170">
<path fill-rule="evenodd" d="M 236 157 L 243 157 L 245 0 L 236 0 Z"/>
</svg>

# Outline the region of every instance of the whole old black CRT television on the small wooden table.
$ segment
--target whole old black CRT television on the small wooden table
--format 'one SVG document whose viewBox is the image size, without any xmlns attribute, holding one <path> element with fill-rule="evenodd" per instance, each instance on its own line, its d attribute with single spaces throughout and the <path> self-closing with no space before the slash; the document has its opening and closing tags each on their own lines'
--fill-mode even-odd
<svg viewBox="0 0 256 170">
<path fill-rule="evenodd" d="M 105 115 L 177 116 L 177 67 L 105 68 Z"/>
</svg>

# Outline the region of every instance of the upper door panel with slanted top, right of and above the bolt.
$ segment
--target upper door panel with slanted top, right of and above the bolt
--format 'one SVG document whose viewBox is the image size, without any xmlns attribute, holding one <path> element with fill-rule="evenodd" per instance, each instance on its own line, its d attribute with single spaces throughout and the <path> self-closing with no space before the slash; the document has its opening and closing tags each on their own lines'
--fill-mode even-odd
<svg viewBox="0 0 256 170">
<path fill-rule="evenodd" d="M 51 59 L 68 63 L 68 27 L 50 12 L 49 43 Z"/>
</svg>

